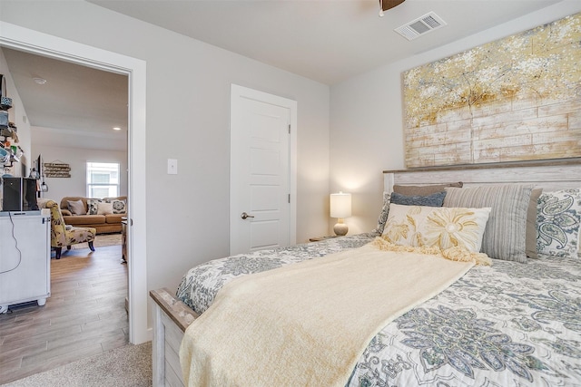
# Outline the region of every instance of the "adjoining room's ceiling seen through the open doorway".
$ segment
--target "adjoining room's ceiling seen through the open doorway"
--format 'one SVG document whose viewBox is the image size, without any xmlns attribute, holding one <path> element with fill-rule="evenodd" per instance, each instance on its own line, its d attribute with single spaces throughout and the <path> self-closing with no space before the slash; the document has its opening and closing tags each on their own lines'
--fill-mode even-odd
<svg viewBox="0 0 581 387">
<path fill-rule="evenodd" d="M 126 150 L 126 75 L 6 47 L 1 50 L 25 105 L 26 118 L 34 127 L 34 142 L 64 148 Z M 34 78 L 46 82 L 38 84 Z M 15 109 L 11 112 L 19 114 Z M 121 130 L 113 131 L 113 127 Z"/>
</svg>

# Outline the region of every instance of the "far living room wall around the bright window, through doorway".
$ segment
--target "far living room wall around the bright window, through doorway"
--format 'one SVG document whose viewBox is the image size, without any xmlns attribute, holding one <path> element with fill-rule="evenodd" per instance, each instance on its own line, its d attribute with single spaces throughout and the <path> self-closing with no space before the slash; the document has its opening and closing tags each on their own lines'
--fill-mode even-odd
<svg viewBox="0 0 581 387">
<path fill-rule="evenodd" d="M 60 203 L 66 196 L 86 196 L 86 163 L 88 161 L 119 163 L 121 171 L 119 196 L 127 195 L 127 152 L 46 146 L 34 141 L 34 127 L 32 129 L 34 157 L 42 154 L 44 162 L 59 160 L 71 167 L 70 178 L 44 178 L 44 182 L 48 185 L 48 192 L 43 193 L 43 198 L 52 198 Z"/>
</svg>

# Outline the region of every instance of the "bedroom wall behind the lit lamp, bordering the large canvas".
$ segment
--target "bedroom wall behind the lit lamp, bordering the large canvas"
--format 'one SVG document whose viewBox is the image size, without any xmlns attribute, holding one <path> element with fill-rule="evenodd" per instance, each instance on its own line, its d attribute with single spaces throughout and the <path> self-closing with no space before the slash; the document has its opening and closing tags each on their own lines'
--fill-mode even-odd
<svg viewBox="0 0 581 387">
<path fill-rule="evenodd" d="M 353 194 L 353 217 L 345 220 L 350 234 L 369 231 L 376 226 L 383 189 L 381 172 L 405 168 L 402 72 L 579 11 L 581 2 L 566 0 L 332 86 L 330 190 L 342 189 Z M 334 222 L 335 219 L 331 219 L 330 227 Z"/>
</svg>

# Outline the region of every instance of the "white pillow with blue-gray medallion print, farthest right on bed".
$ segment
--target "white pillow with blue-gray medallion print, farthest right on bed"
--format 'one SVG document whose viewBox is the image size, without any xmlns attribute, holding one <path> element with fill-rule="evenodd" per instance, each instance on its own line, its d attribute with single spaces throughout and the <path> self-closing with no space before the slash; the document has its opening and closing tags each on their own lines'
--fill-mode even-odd
<svg viewBox="0 0 581 387">
<path fill-rule="evenodd" d="M 543 192 L 537 204 L 537 251 L 575 258 L 580 225 L 581 189 Z"/>
</svg>

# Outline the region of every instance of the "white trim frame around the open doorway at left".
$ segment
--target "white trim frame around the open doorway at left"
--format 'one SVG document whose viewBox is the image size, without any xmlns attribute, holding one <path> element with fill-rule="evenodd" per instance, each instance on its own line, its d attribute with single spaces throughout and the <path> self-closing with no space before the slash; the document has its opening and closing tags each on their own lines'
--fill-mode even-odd
<svg viewBox="0 0 581 387">
<path fill-rule="evenodd" d="M 76 63 L 128 77 L 128 197 L 131 200 L 128 217 L 131 225 L 127 233 L 129 342 L 145 343 L 152 340 L 147 314 L 147 248 L 133 240 L 146 240 L 146 63 L 119 53 L 113 53 L 86 44 L 69 41 L 54 35 L 40 33 L 15 24 L 0 21 L 0 46 L 26 53 Z M 135 193 L 139 192 L 139 195 Z"/>
</svg>

